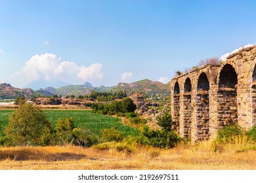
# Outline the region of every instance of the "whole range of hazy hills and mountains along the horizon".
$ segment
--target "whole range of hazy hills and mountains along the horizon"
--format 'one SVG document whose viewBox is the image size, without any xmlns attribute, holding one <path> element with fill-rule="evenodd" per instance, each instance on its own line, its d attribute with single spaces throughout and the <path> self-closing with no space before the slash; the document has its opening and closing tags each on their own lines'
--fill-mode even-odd
<svg viewBox="0 0 256 183">
<path fill-rule="evenodd" d="M 89 82 L 85 82 L 81 85 L 68 85 L 59 88 L 47 87 L 40 88 L 39 90 L 32 90 L 31 88 L 20 89 L 14 88 L 11 84 L 0 84 L 0 98 L 1 99 L 14 99 L 18 96 L 35 97 L 39 95 L 53 96 L 53 95 L 89 95 L 91 91 L 95 92 L 119 92 L 124 91 L 127 95 L 133 95 L 134 93 L 141 92 L 146 93 L 148 97 L 152 95 L 158 97 L 168 97 L 170 95 L 169 84 L 163 84 L 161 82 L 152 81 L 148 79 L 139 80 L 132 83 L 119 83 L 117 86 L 112 87 L 93 87 Z"/>
</svg>

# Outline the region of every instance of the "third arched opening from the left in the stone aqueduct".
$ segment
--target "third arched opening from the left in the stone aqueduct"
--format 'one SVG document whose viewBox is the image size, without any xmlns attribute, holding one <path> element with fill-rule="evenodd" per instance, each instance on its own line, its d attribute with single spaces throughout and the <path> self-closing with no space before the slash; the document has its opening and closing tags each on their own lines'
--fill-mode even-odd
<svg viewBox="0 0 256 183">
<path fill-rule="evenodd" d="M 196 140 L 209 139 L 209 80 L 205 73 L 198 78 L 196 94 Z"/>
</svg>

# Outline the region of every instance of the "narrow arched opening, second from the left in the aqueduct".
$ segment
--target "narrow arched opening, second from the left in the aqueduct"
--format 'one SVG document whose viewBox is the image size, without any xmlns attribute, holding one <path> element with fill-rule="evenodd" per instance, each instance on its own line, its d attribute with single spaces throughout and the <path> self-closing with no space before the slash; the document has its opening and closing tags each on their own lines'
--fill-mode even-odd
<svg viewBox="0 0 256 183">
<path fill-rule="evenodd" d="M 192 111 L 193 106 L 191 103 L 191 80 L 186 78 L 184 83 L 184 94 L 183 94 L 183 138 L 191 139 L 191 124 L 192 124 Z"/>
</svg>

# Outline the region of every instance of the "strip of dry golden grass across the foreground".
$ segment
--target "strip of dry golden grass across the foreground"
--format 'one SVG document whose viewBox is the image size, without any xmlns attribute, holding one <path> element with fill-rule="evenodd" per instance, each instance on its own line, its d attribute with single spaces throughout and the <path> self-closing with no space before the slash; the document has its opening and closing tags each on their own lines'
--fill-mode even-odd
<svg viewBox="0 0 256 183">
<path fill-rule="evenodd" d="M 77 146 L 0 148 L 0 169 L 256 169 L 255 146 L 180 144 L 160 150 L 137 146 L 133 152 Z"/>
</svg>

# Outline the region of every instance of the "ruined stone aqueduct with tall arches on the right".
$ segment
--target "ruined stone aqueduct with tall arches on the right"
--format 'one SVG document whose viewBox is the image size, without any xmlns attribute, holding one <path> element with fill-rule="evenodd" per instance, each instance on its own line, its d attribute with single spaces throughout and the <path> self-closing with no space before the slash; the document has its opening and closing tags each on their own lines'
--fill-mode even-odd
<svg viewBox="0 0 256 183">
<path fill-rule="evenodd" d="M 227 124 L 256 125 L 256 46 L 171 80 L 173 128 L 184 139 L 215 138 Z"/>
</svg>

